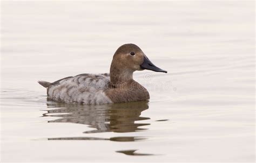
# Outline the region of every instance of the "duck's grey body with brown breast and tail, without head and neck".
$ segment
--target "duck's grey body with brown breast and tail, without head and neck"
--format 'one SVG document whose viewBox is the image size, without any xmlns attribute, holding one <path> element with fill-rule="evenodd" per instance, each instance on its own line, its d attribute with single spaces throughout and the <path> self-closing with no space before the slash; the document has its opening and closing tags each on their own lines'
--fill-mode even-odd
<svg viewBox="0 0 256 163">
<path fill-rule="evenodd" d="M 50 100 L 66 103 L 107 104 L 144 101 L 150 98 L 146 88 L 132 80 L 112 87 L 110 74 L 80 74 L 53 83 L 39 81 Z M 137 89 L 139 88 L 139 89 Z"/>
</svg>

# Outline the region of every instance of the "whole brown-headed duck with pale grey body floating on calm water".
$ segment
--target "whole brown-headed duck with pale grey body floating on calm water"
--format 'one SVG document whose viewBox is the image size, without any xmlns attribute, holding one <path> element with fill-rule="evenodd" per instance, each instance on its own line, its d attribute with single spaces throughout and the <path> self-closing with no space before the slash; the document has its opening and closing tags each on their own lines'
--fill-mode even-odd
<svg viewBox="0 0 256 163">
<path fill-rule="evenodd" d="M 80 74 L 53 83 L 38 81 L 47 88 L 49 100 L 65 103 L 107 104 L 149 100 L 149 92 L 133 80 L 136 70 L 167 73 L 154 66 L 137 45 L 124 44 L 114 53 L 110 73 Z"/>
</svg>

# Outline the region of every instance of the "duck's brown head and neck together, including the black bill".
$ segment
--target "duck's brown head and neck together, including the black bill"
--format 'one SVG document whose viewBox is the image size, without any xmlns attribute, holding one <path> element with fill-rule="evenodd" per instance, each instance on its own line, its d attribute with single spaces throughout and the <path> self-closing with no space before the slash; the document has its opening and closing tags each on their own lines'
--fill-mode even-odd
<svg viewBox="0 0 256 163">
<path fill-rule="evenodd" d="M 133 80 L 134 71 L 144 69 L 167 73 L 154 66 L 137 45 L 124 44 L 114 53 L 110 67 L 110 80 L 113 84 L 127 82 Z"/>
</svg>

